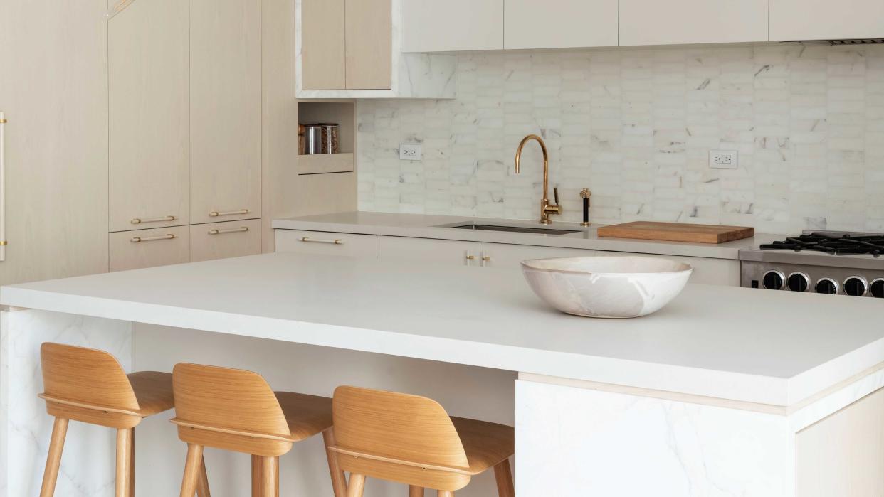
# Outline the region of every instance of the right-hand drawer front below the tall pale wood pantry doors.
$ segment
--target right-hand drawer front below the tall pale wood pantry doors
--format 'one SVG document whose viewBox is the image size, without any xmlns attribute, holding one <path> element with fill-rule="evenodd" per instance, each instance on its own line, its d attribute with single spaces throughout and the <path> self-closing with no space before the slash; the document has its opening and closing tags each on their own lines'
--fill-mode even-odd
<svg viewBox="0 0 884 497">
<path fill-rule="evenodd" d="M 190 260 L 224 259 L 261 253 L 261 220 L 190 226 Z"/>
</svg>

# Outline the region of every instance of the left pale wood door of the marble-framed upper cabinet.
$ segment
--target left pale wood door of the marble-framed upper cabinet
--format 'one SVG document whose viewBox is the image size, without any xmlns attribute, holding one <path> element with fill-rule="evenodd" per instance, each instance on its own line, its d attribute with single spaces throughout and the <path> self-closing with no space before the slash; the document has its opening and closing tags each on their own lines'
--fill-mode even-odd
<svg viewBox="0 0 884 497">
<path fill-rule="evenodd" d="M 345 0 L 302 0 L 301 87 L 343 90 Z"/>
</svg>

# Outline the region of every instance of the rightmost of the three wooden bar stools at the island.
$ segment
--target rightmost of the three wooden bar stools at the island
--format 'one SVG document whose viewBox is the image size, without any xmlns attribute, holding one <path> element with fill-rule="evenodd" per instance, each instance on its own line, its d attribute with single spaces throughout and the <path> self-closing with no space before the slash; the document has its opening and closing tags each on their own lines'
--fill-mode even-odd
<svg viewBox="0 0 884 497">
<path fill-rule="evenodd" d="M 369 388 L 339 387 L 333 400 L 336 443 L 330 450 L 350 471 L 347 497 L 362 497 L 365 478 L 453 497 L 469 478 L 494 468 L 499 497 L 513 497 L 509 457 L 514 430 L 475 419 L 451 418 L 436 401 Z"/>
</svg>

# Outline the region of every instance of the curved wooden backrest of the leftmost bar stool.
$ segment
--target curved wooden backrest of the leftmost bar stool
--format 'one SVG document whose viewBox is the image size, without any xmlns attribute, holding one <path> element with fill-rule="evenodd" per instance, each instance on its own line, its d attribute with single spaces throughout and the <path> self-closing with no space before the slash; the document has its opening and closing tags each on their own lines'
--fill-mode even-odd
<svg viewBox="0 0 884 497">
<path fill-rule="evenodd" d="M 56 418 L 110 428 L 141 422 L 141 407 L 117 358 L 103 350 L 43 343 L 40 347 L 46 410 Z"/>
</svg>

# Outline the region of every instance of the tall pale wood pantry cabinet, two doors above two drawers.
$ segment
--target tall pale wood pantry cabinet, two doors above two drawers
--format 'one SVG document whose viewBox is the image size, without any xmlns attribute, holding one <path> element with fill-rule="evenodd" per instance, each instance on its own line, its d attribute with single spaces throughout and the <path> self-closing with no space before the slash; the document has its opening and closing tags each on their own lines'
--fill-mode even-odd
<svg viewBox="0 0 884 497">
<path fill-rule="evenodd" d="M 135 2 L 108 45 L 110 270 L 260 252 L 261 0 Z"/>
</svg>

